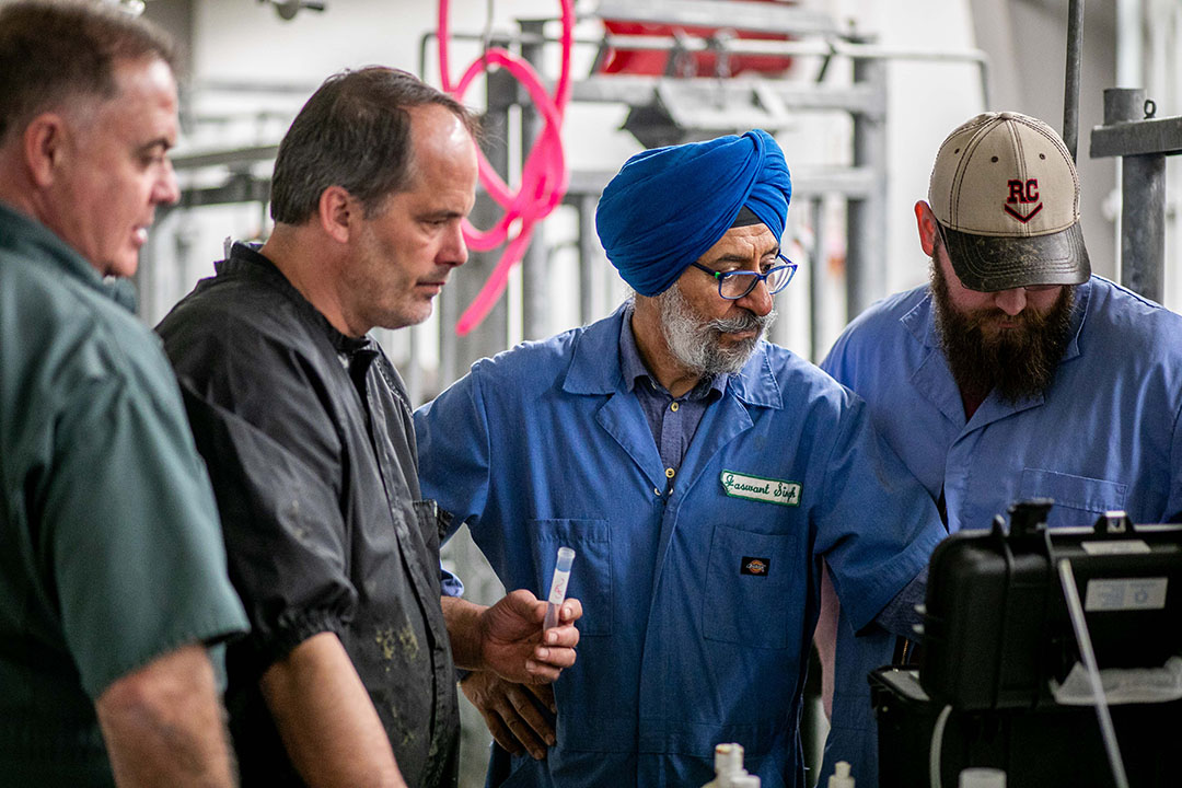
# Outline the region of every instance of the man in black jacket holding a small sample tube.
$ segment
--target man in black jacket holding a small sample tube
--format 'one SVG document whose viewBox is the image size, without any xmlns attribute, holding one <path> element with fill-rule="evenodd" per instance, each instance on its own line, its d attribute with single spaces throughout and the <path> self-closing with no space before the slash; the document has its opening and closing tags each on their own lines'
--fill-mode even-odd
<svg viewBox="0 0 1182 788">
<path fill-rule="evenodd" d="M 551 647 L 527 591 L 448 599 L 444 621 L 410 404 L 366 336 L 430 314 L 475 184 L 452 98 L 389 69 L 331 77 L 279 148 L 271 239 L 158 326 L 253 629 L 228 655 L 243 784 L 454 784 L 453 653 L 532 682 L 574 660 L 577 601 Z"/>
</svg>

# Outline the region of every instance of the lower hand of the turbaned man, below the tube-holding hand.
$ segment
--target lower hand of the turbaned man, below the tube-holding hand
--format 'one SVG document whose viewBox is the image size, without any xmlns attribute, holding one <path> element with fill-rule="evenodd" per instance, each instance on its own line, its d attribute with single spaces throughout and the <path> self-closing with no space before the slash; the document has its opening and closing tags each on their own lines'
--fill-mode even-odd
<svg viewBox="0 0 1182 788">
<path fill-rule="evenodd" d="M 460 683 L 493 738 L 511 755 L 525 748 L 537 761 L 554 743 L 554 693 L 550 684 L 515 684 L 488 671 L 469 673 Z"/>
</svg>

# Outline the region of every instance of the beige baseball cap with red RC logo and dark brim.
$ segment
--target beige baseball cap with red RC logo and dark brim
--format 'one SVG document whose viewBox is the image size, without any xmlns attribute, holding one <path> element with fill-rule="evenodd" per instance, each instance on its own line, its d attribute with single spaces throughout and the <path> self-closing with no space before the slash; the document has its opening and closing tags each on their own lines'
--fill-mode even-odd
<svg viewBox="0 0 1182 788">
<path fill-rule="evenodd" d="M 969 289 L 1079 285 L 1091 275 L 1076 165 L 1037 118 L 986 112 L 948 135 L 928 203 Z"/>
</svg>

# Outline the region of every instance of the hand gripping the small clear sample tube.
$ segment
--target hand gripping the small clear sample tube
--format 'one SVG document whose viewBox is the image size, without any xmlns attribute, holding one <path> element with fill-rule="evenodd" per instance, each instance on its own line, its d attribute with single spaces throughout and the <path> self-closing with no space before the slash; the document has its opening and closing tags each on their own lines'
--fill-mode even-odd
<svg viewBox="0 0 1182 788">
<path fill-rule="evenodd" d="M 480 613 L 481 664 L 509 682 L 546 684 L 574 664 L 583 616 L 578 599 L 559 608 L 558 626 L 541 631 L 546 603 L 519 588 Z"/>
</svg>

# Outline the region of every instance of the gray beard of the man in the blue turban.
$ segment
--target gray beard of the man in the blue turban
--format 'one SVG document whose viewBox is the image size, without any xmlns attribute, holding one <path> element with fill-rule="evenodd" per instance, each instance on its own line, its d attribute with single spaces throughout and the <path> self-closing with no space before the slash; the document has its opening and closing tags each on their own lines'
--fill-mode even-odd
<svg viewBox="0 0 1182 788">
<path fill-rule="evenodd" d="M 752 312 L 732 319 L 702 320 L 676 285 L 656 297 L 661 333 L 669 352 L 686 370 L 699 377 L 734 375 L 742 370 L 755 346 L 773 323 L 775 310 L 764 317 Z M 756 331 L 751 339 L 722 344 L 722 334 Z"/>
</svg>

